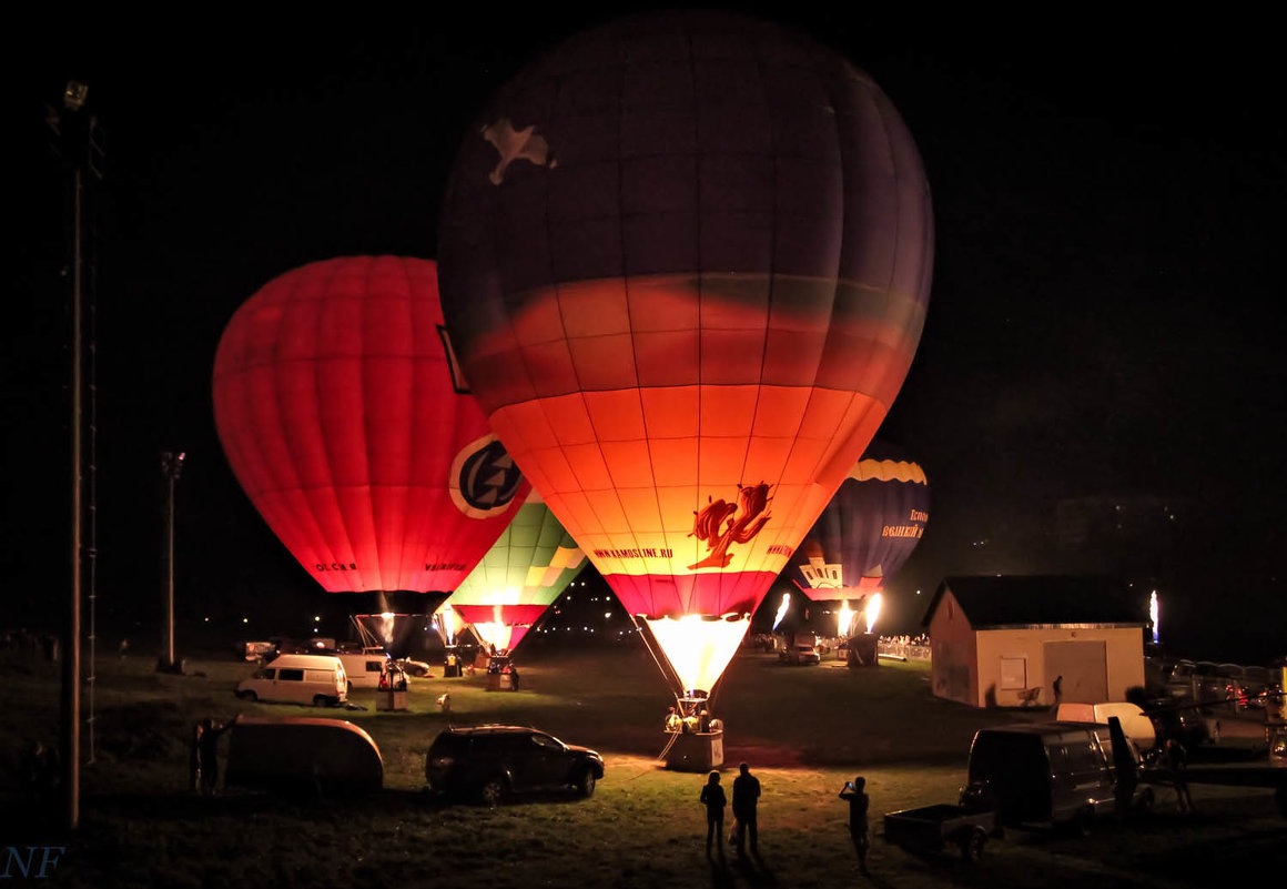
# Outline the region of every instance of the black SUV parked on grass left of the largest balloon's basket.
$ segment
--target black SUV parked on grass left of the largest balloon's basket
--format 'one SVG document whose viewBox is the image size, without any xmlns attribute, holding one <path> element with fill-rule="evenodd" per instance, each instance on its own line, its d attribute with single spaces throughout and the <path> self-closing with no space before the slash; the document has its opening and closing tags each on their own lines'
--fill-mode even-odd
<svg viewBox="0 0 1287 889">
<path fill-rule="evenodd" d="M 535 728 L 448 728 L 429 747 L 425 777 L 435 793 L 476 794 L 488 805 L 547 790 L 589 796 L 604 777 L 604 758 Z"/>
</svg>

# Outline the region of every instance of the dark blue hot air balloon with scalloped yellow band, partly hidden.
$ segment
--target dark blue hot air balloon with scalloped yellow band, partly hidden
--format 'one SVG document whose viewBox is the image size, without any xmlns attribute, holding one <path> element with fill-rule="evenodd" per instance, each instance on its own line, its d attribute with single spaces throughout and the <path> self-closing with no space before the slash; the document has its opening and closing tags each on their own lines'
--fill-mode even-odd
<svg viewBox="0 0 1287 889">
<path fill-rule="evenodd" d="M 873 441 L 804 535 L 788 575 L 813 602 L 834 602 L 837 630 L 848 636 L 858 614 L 851 603 L 880 593 L 928 521 L 925 471 L 892 445 Z"/>
</svg>

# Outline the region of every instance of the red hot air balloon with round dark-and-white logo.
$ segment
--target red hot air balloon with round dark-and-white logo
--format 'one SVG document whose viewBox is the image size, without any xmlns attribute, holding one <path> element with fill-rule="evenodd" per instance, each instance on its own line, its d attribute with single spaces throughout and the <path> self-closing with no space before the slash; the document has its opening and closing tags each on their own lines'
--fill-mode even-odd
<svg viewBox="0 0 1287 889">
<path fill-rule="evenodd" d="M 452 591 L 528 493 L 445 342 L 434 262 L 395 256 L 288 271 L 224 331 L 224 453 L 329 592 Z"/>
</svg>

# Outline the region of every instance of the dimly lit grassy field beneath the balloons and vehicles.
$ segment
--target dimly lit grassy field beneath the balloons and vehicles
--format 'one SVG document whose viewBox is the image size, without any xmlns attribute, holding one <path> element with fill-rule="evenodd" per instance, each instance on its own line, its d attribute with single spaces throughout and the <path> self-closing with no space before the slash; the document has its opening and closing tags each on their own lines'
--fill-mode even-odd
<svg viewBox="0 0 1287 889">
<path fill-rule="evenodd" d="M 230 793 L 184 793 L 193 720 L 234 713 L 315 715 L 311 708 L 243 704 L 245 664 L 189 660 L 188 677 L 157 675 L 151 660 L 100 668 L 97 762 L 84 773 L 82 830 L 33 823 L 14 793 L 23 741 L 51 740 L 57 674 L 0 665 L 0 856 L 45 840 L 68 847 L 51 885 L 223 886 L 1205 886 L 1261 866 L 1287 866 L 1287 821 L 1263 790 L 1194 787 L 1198 814 L 1176 813 L 1170 791 L 1149 818 L 1104 825 L 1090 839 L 1008 831 L 981 865 L 919 858 L 885 845 L 880 813 L 954 802 L 969 740 L 987 724 L 1045 714 L 978 711 L 929 696 L 928 669 L 885 664 L 780 666 L 770 655 L 735 659 L 716 700 L 731 771 L 758 773 L 762 862 L 708 862 L 698 804 L 703 776 L 667 772 L 655 756 L 669 702 L 642 651 L 533 651 L 517 693 L 484 678 L 412 679 L 407 714 L 326 711 L 362 726 L 380 745 L 385 787 L 358 800 L 300 803 Z M 452 692 L 452 713 L 435 697 Z M 588 800 L 539 799 L 494 811 L 444 804 L 423 793 L 423 756 L 448 722 L 535 724 L 600 750 L 607 773 Z M 1228 735 L 1228 732 L 1227 732 Z M 1254 732 L 1248 732 L 1254 736 Z M 1228 742 L 1227 742 L 1228 744 Z M 862 877 L 837 799 L 861 772 L 871 794 L 871 877 Z M 731 774 L 730 774 L 731 778 Z M 1252 863 L 1256 865 L 1252 868 Z M 0 859 L 0 866 L 4 862 Z M 3 871 L 0 871 L 3 874 Z"/>
</svg>

